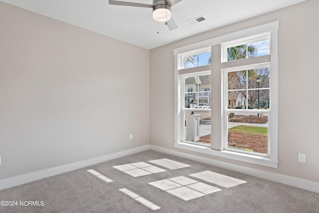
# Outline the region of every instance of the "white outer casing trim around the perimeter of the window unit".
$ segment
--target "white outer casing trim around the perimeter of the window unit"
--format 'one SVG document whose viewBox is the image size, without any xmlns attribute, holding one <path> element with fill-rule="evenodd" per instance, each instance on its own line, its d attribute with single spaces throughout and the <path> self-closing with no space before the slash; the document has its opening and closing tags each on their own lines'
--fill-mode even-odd
<svg viewBox="0 0 319 213">
<path fill-rule="evenodd" d="M 189 150 L 189 151 L 194 151 L 202 154 L 208 154 L 216 157 L 222 157 L 226 159 L 231 159 L 231 160 L 236 160 L 240 162 L 246 162 L 246 163 L 252 163 L 256 165 L 262 165 L 266 167 L 272 167 L 272 168 L 278 168 L 278 29 L 279 29 L 279 21 L 274 21 L 270 23 L 266 23 L 263 25 L 255 26 L 252 28 L 244 29 L 241 31 L 233 32 L 230 34 L 226 34 L 223 36 L 219 36 L 216 38 L 212 38 L 209 40 L 201 41 L 198 43 L 190 44 L 187 46 L 179 47 L 174 49 L 174 65 L 175 65 L 175 143 L 174 146 L 175 148 L 179 149 L 184 149 L 184 150 Z M 189 51 L 194 51 L 200 49 L 200 48 L 208 48 L 212 47 L 215 45 L 220 45 L 221 43 L 227 42 L 227 41 L 232 41 L 244 37 L 248 37 L 251 35 L 257 35 L 260 33 L 265 33 L 265 32 L 270 32 L 271 33 L 271 42 L 270 42 L 270 48 L 271 48 L 271 75 L 272 75 L 272 80 L 271 80 L 271 88 L 273 89 L 271 93 L 271 102 L 272 102 L 272 111 L 271 111 L 271 127 L 269 127 L 269 131 L 271 131 L 271 157 L 263 157 L 263 156 L 257 156 L 257 155 L 248 155 L 245 153 L 238 153 L 238 152 L 232 152 L 229 150 L 223 150 L 223 147 L 220 147 L 220 150 L 217 149 L 212 149 L 211 147 L 205 147 L 205 146 L 199 146 L 199 145 L 194 145 L 194 144 L 188 144 L 182 142 L 182 137 L 181 137 L 181 128 L 180 125 L 180 116 L 182 116 L 182 109 L 181 109 L 181 104 L 182 104 L 182 96 L 181 96 L 181 76 L 178 73 L 178 69 L 182 68 L 182 64 L 178 64 L 178 62 L 181 62 L 181 56 L 182 53 L 189 52 Z M 220 60 L 222 58 L 222 54 L 224 54 L 221 51 L 220 55 Z M 215 57 L 215 56 L 214 56 Z M 261 57 L 256 57 L 256 58 L 262 58 Z M 255 60 L 255 59 L 253 59 Z M 257 59 L 260 60 L 260 59 Z M 202 67 L 196 67 L 196 70 L 212 70 L 212 65 L 206 65 Z M 227 68 L 227 67 L 223 67 Z M 182 71 L 183 73 L 190 73 L 192 72 L 191 70 L 189 71 Z M 213 75 L 213 73 L 212 73 Z M 221 76 L 223 77 L 223 76 Z M 213 78 L 213 76 L 212 76 Z M 223 79 L 221 79 L 223 80 Z M 221 85 L 223 87 L 223 85 Z M 213 90 L 213 88 L 211 89 Z M 221 97 L 222 99 L 223 97 Z M 222 103 L 222 100 L 221 100 Z M 213 106 L 211 106 L 213 107 Z M 222 106 L 221 110 L 223 109 Z M 223 114 L 223 111 L 221 111 L 221 116 Z M 213 115 L 212 115 L 213 116 Z M 221 130 L 223 131 L 224 127 L 224 121 L 222 118 L 220 118 L 220 125 L 221 125 Z M 221 136 L 223 135 L 223 132 L 220 132 Z M 218 138 L 218 137 L 217 137 Z M 222 141 L 219 142 L 221 146 L 223 146 Z M 213 145 L 212 145 L 213 147 Z"/>
</svg>

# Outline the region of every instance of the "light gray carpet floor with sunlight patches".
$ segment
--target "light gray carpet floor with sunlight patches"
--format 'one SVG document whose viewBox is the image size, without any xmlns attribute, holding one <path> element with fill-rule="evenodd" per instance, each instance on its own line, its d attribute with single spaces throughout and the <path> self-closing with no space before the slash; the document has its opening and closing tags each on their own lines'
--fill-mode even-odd
<svg viewBox="0 0 319 213">
<path fill-rule="evenodd" d="M 319 212 L 317 193 L 155 151 L 4 189 L 0 201 L 18 202 L 0 206 L 0 213 Z"/>
</svg>

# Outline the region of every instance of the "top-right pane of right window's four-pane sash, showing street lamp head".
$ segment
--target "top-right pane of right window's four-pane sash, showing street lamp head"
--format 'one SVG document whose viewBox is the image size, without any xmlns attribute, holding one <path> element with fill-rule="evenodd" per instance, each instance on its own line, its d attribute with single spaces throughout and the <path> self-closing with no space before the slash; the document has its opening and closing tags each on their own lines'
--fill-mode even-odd
<svg viewBox="0 0 319 213">
<path fill-rule="evenodd" d="M 248 88 L 250 89 L 269 88 L 270 67 L 248 70 L 248 79 Z"/>
</svg>

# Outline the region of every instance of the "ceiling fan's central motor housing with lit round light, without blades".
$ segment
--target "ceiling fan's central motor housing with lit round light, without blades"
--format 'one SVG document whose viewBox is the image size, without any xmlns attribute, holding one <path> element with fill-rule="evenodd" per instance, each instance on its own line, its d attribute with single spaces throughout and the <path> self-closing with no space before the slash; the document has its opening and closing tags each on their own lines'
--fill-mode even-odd
<svg viewBox="0 0 319 213">
<path fill-rule="evenodd" d="M 168 21 L 171 18 L 171 8 L 165 0 L 153 0 L 153 18 L 157 21 Z"/>
</svg>

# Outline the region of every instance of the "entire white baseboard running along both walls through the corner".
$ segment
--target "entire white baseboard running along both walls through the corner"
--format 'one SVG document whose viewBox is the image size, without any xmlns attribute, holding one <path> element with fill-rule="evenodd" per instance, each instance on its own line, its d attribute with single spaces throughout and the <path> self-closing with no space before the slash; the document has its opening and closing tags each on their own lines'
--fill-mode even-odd
<svg viewBox="0 0 319 213">
<path fill-rule="evenodd" d="M 101 157 L 97 157 L 97 158 L 93 158 L 93 159 L 89 159 L 89 160 L 84 160 L 81 162 L 62 165 L 62 166 L 53 167 L 53 168 L 49 168 L 49 169 L 45 169 L 45 170 L 41 170 L 41 171 L 37 171 L 37 172 L 33 172 L 33 173 L 28 173 L 25 175 L 20 175 L 20 176 L 8 178 L 8 179 L 0 180 L 0 190 L 14 187 L 14 186 L 18 186 L 21 184 L 26 184 L 26 183 L 29 183 L 32 181 L 40 180 L 40 179 L 47 178 L 47 177 L 54 176 L 54 175 L 59 175 L 61 173 L 84 168 L 84 167 L 91 166 L 94 164 L 99 164 L 99 163 L 102 163 L 105 161 L 125 157 L 128 155 L 136 154 L 136 153 L 147 151 L 147 150 L 154 150 L 157 152 L 161 152 L 161 153 L 165 153 L 165 154 L 169 154 L 169 155 L 174 155 L 174 156 L 189 159 L 192 161 L 197 161 L 200 163 L 228 169 L 231 171 L 235 171 L 235 172 L 239 172 L 239 173 L 255 176 L 258 178 L 263 178 L 266 180 L 270 180 L 270 181 L 290 185 L 293 187 L 297 187 L 300 189 L 319 193 L 319 183 L 317 183 L 317 182 L 307 181 L 307 180 L 294 178 L 294 177 L 290 177 L 290 176 L 286 176 L 286 175 L 281 175 L 281 174 L 277 174 L 277 173 L 272 173 L 272 172 L 266 172 L 266 171 L 262 171 L 262 170 L 258 170 L 258 169 L 244 167 L 244 166 L 240 166 L 240 165 L 236 165 L 236 164 L 231 164 L 231 163 L 227 163 L 227 162 L 223 162 L 223 161 L 218 161 L 218 160 L 214 160 L 214 159 L 210 159 L 210 158 L 205 158 L 202 156 L 183 153 L 183 152 L 170 150 L 170 149 L 166 149 L 166 148 L 162 148 L 162 147 L 158 147 L 158 146 L 153 146 L 153 145 L 145 145 L 145 146 L 133 148 L 130 150 L 121 151 L 118 153 L 113 153 L 113 154 L 109 154 L 109 155 L 105 155 L 105 156 L 101 156 Z"/>
</svg>

